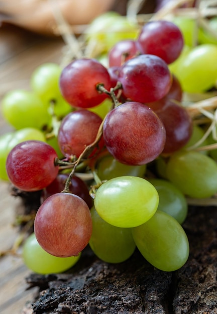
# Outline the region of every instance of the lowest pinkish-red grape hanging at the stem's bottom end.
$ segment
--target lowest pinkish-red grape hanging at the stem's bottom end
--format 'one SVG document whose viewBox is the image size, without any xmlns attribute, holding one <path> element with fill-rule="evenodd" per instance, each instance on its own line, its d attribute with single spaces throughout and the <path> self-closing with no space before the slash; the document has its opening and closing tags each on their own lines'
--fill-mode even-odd
<svg viewBox="0 0 217 314">
<path fill-rule="evenodd" d="M 76 256 L 91 236 L 89 208 L 77 195 L 51 195 L 36 214 L 34 231 L 37 241 L 48 253 L 58 257 Z"/>
</svg>

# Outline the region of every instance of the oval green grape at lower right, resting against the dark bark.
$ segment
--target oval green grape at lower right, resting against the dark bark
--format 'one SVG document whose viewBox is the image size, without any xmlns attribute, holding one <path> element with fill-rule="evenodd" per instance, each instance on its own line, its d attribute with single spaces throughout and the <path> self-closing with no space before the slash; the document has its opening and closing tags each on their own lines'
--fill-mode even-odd
<svg viewBox="0 0 217 314">
<path fill-rule="evenodd" d="M 181 268 L 189 256 L 189 242 L 182 226 L 170 215 L 157 211 L 146 223 L 132 229 L 141 254 L 163 271 Z"/>
</svg>

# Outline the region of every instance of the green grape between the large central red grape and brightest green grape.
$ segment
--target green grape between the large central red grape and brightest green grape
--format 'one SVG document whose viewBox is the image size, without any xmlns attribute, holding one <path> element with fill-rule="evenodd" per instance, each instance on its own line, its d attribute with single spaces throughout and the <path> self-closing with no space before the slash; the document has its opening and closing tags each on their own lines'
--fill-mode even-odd
<svg viewBox="0 0 217 314">
<path fill-rule="evenodd" d="M 129 166 L 118 162 L 113 156 L 105 156 L 97 164 L 97 174 L 101 180 L 110 180 L 121 176 L 144 177 L 146 165 Z"/>
</svg>

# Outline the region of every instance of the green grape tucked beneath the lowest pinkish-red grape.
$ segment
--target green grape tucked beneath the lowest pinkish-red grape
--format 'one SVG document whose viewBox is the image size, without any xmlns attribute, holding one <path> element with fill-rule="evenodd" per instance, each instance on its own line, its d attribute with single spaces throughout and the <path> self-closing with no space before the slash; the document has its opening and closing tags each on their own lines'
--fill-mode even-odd
<svg viewBox="0 0 217 314">
<path fill-rule="evenodd" d="M 26 266 L 39 274 L 61 273 L 74 266 L 78 256 L 57 257 L 47 253 L 38 243 L 32 233 L 25 241 L 22 256 Z"/>
</svg>

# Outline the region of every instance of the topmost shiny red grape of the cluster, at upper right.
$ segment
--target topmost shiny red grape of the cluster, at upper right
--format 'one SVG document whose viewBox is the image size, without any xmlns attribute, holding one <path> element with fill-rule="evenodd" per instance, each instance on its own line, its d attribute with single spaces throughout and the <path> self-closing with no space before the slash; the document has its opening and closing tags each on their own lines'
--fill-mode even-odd
<svg viewBox="0 0 217 314">
<path fill-rule="evenodd" d="M 169 21 L 146 23 L 138 37 L 142 52 L 162 58 L 167 64 L 175 61 L 184 46 L 180 29 Z"/>
</svg>

